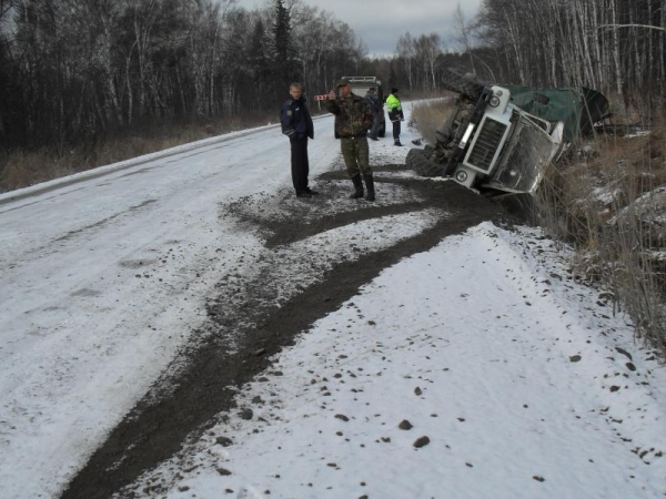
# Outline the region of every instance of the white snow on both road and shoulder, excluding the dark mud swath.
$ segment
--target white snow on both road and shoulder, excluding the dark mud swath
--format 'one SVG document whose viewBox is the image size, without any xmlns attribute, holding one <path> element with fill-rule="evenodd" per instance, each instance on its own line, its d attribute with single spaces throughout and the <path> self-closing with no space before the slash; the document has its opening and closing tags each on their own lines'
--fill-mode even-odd
<svg viewBox="0 0 666 499">
<path fill-rule="evenodd" d="M 315 121 L 311 179 L 341 167 L 332 128 Z M 406 150 L 371 142 L 380 164 Z M 418 204 L 400 189 L 380 184 L 376 204 Z M 223 216 L 290 191 L 289 143 L 269 125 L 0 195 L 2 499 L 59 496 L 249 254 L 321 258 L 300 272 L 304 288 L 326 258 L 353 262 L 450 216 L 332 222 L 276 249 Z M 664 497 L 666 373 L 561 249 L 484 223 L 402 259 L 239 390 L 251 413 L 221 415 L 122 497 Z"/>
</svg>

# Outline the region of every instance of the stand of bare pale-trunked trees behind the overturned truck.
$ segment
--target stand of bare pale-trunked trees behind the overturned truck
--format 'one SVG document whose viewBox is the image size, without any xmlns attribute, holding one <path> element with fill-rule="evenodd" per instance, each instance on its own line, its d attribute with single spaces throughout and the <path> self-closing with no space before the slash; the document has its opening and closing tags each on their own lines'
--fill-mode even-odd
<svg viewBox="0 0 666 499">
<path fill-rule="evenodd" d="M 485 0 L 476 22 L 507 80 L 663 96 L 664 10 L 666 0 Z"/>
</svg>

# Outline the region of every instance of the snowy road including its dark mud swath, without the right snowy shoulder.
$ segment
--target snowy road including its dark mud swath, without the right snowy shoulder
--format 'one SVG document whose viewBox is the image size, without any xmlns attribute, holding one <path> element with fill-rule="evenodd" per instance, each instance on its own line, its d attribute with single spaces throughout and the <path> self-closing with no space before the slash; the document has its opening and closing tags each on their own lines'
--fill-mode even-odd
<svg viewBox="0 0 666 499">
<path fill-rule="evenodd" d="M 315 126 L 312 200 L 274 126 L 0 196 L 6 497 L 109 497 L 383 268 L 504 216 L 389 140 L 377 202 L 349 200 L 332 118 Z"/>
</svg>

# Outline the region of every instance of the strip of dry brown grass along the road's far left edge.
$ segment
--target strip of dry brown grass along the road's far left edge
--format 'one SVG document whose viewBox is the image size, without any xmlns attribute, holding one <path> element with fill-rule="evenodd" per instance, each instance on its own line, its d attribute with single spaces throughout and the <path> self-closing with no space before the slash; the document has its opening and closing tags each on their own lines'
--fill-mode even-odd
<svg viewBox="0 0 666 499">
<path fill-rule="evenodd" d="M 275 116 L 271 119 L 276 121 Z M 38 151 L 0 152 L 0 192 L 27 187 L 268 122 L 269 116 L 251 116 L 209 123 L 153 125 L 131 136 L 100 140 L 93 144 L 80 144 L 68 149 L 43 147 Z"/>
</svg>

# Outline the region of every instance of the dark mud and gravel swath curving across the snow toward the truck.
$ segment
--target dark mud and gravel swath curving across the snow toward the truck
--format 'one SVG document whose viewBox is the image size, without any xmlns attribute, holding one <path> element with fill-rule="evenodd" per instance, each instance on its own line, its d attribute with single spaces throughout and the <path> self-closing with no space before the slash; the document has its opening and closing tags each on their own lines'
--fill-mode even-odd
<svg viewBox="0 0 666 499">
<path fill-rule="evenodd" d="M 270 358 L 313 323 L 337 309 L 384 268 L 426 252 L 444 237 L 484 221 L 516 218 L 497 203 L 451 181 L 417 177 L 405 165 L 373 166 L 377 201 L 349 200 L 352 184 L 341 165 L 312 179 L 321 194 L 296 198 L 283 191 L 219 206 L 225 222 L 263 242 L 244 254 L 208 298 L 208 317 L 151 391 L 111 431 L 70 481 L 63 498 L 145 497 L 160 490 L 132 483 L 183 444 L 238 410 L 234 394 L 271 369 Z M 389 247 L 336 259 L 322 251 L 289 252 L 309 237 L 363 221 L 435 211 L 434 224 Z M 303 278 L 309 274 L 310 278 Z M 159 486 L 157 486 L 159 487 Z"/>
</svg>

